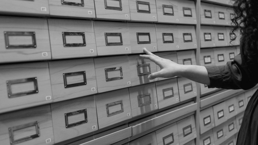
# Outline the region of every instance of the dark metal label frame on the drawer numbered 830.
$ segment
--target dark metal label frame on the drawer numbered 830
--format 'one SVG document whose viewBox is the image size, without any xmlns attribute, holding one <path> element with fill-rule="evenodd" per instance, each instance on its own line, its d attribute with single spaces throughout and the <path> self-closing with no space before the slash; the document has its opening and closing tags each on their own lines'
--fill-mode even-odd
<svg viewBox="0 0 258 145">
<path fill-rule="evenodd" d="M 68 84 L 67 83 L 67 77 L 71 77 L 71 76 L 83 76 L 83 82 L 79 82 L 79 83 L 73 83 L 73 84 Z M 76 86 L 82 86 L 82 85 L 86 85 L 86 72 L 85 71 L 78 71 L 78 72 L 73 72 L 73 73 L 65 73 L 63 74 L 63 78 L 64 78 L 64 84 L 65 84 L 65 88 L 69 88 L 69 87 L 76 87 Z"/>
</svg>

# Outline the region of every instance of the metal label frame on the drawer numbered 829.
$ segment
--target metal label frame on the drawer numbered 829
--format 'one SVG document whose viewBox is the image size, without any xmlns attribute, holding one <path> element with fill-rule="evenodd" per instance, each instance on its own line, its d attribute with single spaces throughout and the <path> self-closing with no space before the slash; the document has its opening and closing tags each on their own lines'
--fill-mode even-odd
<svg viewBox="0 0 258 145">
<path fill-rule="evenodd" d="M 18 92 L 18 93 L 13 93 L 12 92 L 12 85 L 14 85 L 14 84 L 21 84 L 21 83 L 28 83 L 28 82 L 33 82 L 34 90 Z M 36 94 L 36 93 L 38 93 L 37 77 L 25 78 L 25 79 L 7 80 L 6 84 L 7 84 L 7 93 L 8 93 L 8 97 L 9 98 L 14 98 L 14 97 L 19 97 L 19 96 L 25 96 L 25 95 L 29 95 L 29 94 Z"/>
</svg>

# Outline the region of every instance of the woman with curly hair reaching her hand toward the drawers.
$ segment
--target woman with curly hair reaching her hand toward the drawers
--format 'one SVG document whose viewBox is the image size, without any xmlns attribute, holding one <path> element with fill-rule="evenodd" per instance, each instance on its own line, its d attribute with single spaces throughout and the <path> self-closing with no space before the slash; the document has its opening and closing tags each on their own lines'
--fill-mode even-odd
<svg viewBox="0 0 258 145">
<path fill-rule="evenodd" d="M 149 75 L 149 79 L 157 77 L 170 78 L 181 76 L 195 82 L 208 85 L 209 88 L 248 90 L 258 83 L 258 1 L 235 0 L 235 12 L 232 33 L 240 29 L 240 54 L 233 61 L 223 66 L 179 65 L 160 58 L 144 48 L 147 55 L 141 58 L 150 59 L 160 66 L 159 72 Z M 237 145 L 258 144 L 258 91 L 250 99 L 238 133 Z"/>
</svg>

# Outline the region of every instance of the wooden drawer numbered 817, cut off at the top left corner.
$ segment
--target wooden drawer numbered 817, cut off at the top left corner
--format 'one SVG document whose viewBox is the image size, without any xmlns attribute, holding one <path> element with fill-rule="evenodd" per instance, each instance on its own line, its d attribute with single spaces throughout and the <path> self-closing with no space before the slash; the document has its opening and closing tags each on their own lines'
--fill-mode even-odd
<svg viewBox="0 0 258 145">
<path fill-rule="evenodd" d="M 49 15 L 49 4 L 48 1 L 45 0 L 32 2 L 2 0 L 0 5 L 0 13 L 18 15 Z"/>
</svg>

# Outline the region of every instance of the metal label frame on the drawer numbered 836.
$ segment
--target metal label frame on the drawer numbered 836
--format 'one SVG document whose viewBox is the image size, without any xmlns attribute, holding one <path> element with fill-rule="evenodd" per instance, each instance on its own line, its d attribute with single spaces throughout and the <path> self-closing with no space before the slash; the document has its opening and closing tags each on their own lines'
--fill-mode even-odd
<svg viewBox="0 0 258 145">
<path fill-rule="evenodd" d="M 81 114 L 81 113 L 84 114 L 84 120 L 69 124 L 69 122 L 68 122 L 68 117 L 69 116 L 73 116 L 73 115 L 77 115 L 77 114 Z M 74 111 L 74 112 L 70 112 L 70 113 L 65 113 L 65 127 L 66 128 L 77 126 L 77 125 L 84 124 L 84 123 L 87 123 L 87 122 L 88 122 L 88 120 L 87 120 L 87 109 L 78 110 L 78 111 Z"/>
</svg>

